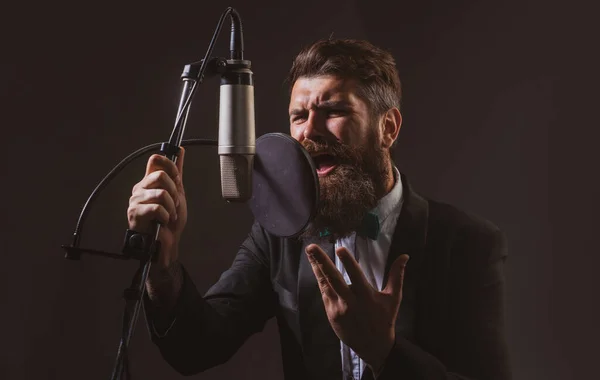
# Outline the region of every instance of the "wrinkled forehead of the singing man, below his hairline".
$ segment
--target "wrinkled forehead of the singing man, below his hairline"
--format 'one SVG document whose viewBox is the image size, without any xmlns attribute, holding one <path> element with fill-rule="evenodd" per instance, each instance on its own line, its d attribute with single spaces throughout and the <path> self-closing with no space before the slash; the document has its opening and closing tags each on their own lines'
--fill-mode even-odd
<svg viewBox="0 0 600 380">
<path fill-rule="evenodd" d="M 356 81 L 332 75 L 300 77 L 292 87 L 290 109 L 310 108 L 325 101 L 344 101 L 351 105 L 363 103 L 357 95 Z"/>
</svg>

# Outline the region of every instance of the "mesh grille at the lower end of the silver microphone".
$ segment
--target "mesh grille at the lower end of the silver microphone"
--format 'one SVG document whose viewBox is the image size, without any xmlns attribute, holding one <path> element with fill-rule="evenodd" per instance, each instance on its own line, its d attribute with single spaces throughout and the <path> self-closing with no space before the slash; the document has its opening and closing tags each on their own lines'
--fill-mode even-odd
<svg viewBox="0 0 600 380">
<path fill-rule="evenodd" d="M 245 202 L 252 197 L 253 154 L 220 155 L 221 192 L 227 201 Z"/>
</svg>

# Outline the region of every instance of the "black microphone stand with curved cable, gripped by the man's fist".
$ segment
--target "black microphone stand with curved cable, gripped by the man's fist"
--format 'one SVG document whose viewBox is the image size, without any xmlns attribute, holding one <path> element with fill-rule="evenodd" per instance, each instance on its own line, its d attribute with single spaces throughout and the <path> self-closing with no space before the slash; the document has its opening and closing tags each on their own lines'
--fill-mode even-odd
<svg viewBox="0 0 600 380">
<path fill-rule="evenodd" d="M 197 85 L 202 83 L 204 80 L 205 73 L 210 76 L 214 76 L 217 74 L 223 74 L 228 69 L 228 62 L 226 59 L 209 58 L 214 49 L 219 32 L 223 26 L 225 17 L 228 15 L 231 16 L 232 19 L 232 31 L 238 28 L 241 31 L 241 20 L 239 14 L 235 11 L 235 9 L 231 7 L 227 8 L 219 19 L 204 59 L 199 62 L 186 65 L 181 75 L 183 87 L 177 111 L 177 118 L 175 119 L 175 126 L 173 128 L 173 132 L 171 133 L 171 137 L 169 138 L 169 142 L 162 143 L 160 146 L 160 154 L 168 157 L 173 162 L 177 161 L 181 145 L 217 145 L 217 142 L 214 140 L 196 139 L 183 141 L 183 134 L 185 132 L 185 126 L 187 123 L 192 98 L 197 89 Z M 241 33 L 236 37 L 235 44 L 241 44 L 243 49 Z M 234 37 L 232 35 L 231 46 L 233 45 Z M 235 53 L 237 54 L 237 52 Z M 236 58 L 233 56 L 233 54 L 234 51 L 232 51 L 232 58 Z M 136 157 L 156 149 L 157 145 L 158 144 L 153 144 L 130 154 L 108 173 L 108 175 L 94 189 L 85 203 L 79 216 L 75 233 L 73 234 L 72 245 L 62 246 L 62 248 L 66 251 L 65 258 L 70 260 L 79 260 L 81 258 L 81 254 L 88 253 L 125 260 L 134 258 L 140 261 L 140 267 L 133 276 L 131 286 L 124 291 L 125 310 L 123 313 L 123 329 L 111 380 L 120 380 L 123 373 L 126 374 L 127 378 L 131 377 L 129 373 L 127 350 L 142 307 L 142 299 L 145 294 L 145 284 L 148 279 L 148 274 L 150 273 L 152 262 L 155 261 L 158 252 L 160 251 L 160 241 L 158 240 L 158 237 L 161 225 L 159 223 L 155 223 L 151 233 L 127 230 L 122 254 L 118 254 L 89 248 L 80 248 L 79 245 L 81 242 L 83 222 L 87 217 L 91 202 L 95 200 L 100 191 L 106 187 L 108 182 L 114 178 L 129 162 Z"/>
</svg>

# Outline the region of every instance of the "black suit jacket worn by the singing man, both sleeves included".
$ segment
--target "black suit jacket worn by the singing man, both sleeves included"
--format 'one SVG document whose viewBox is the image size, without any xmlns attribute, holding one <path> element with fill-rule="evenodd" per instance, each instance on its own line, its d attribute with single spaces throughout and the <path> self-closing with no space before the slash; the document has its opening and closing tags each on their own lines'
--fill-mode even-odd
<svg viewBox="0 0 600 380">
<path fill-rule="evenodd" d="M 410 261 L 395 346 L 379 379 L 509 379 L 502 233 L 422 198 L 402 181 L 404 205 L 384 283 L 400 254 Z M 277 238 L 255 223 L 231 268 L 204 297 L 184 271 L 175 320 L 164 335 L 152 326 L 156 310 L 146 298 L 152 340 L 163 357 L 182 374 L 198 373 L 227 361 L 275 316 L 286 380 L 342 379 L 340 342 L 304 254 L 313 242 L 333 259 L 333 243 Z M 366 369 L 363 379 L 372 378 Z"/>
</svg>

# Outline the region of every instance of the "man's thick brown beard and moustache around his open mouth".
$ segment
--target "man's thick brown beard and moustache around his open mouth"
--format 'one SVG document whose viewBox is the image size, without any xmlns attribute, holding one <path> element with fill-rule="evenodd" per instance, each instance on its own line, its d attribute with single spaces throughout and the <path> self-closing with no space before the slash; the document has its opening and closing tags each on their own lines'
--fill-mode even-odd
<svg viewBox="0 0 600 380">
<path fill-rule="evenodd" d="M 374 134 L 362 147 L 323 140 L 304 140 L 302 145 L 311 155 L 323 152 L 332 155 L 337 167 L 319 177 L 317 214 L 301 237 L 319 236 L 325 230 L 329 231 L 330 241 L 350 235 L 386 193 L 389 152 L 381 148 Z"/>
</svg>

